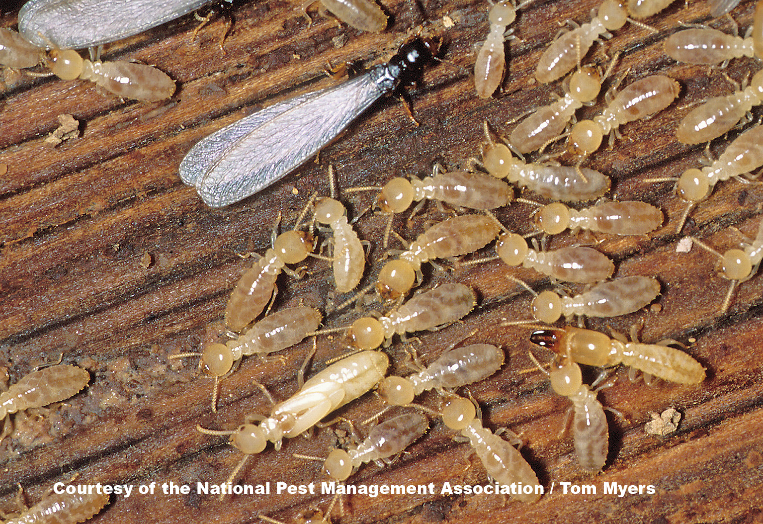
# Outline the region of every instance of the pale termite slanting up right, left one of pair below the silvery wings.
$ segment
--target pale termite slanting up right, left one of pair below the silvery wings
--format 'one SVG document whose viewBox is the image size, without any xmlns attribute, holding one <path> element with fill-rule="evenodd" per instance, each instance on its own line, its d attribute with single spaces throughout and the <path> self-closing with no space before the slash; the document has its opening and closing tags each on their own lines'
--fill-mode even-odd
<svg viewBox="0 0 763 524">
<path fill-rule="evenodd" d="M 307 204 L 311 201 L 312 198 Z M 305 211 L 307 207 L 298 217 L 296 226 L 299 225 Z M 259 313 L 268 305 L 275 290 L 275 281 L 285 265 L 302 262 L 313 251 L 313 245 L 313 236 L 297 229 L 276 236 L 273 247 L 241 275 L 233 288 L 225 308 L 227 326 L 233 331 L 240 331 L 259 317 Z"/>
</svg>

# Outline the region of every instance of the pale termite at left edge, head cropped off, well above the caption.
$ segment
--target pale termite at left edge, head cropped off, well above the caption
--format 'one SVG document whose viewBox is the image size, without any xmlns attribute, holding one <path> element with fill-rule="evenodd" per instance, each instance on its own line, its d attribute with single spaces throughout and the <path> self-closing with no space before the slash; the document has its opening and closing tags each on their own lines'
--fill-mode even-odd
<svg viewBox="0 0 763 524">
<path fill-rule="evenodd" d="M 11 413 L 66 400 L 88 385 L 90 374 L 75 365 L 53 365 L 25 375 L 0 393 L 0 440 L 11 432 Z"/>
</svg>

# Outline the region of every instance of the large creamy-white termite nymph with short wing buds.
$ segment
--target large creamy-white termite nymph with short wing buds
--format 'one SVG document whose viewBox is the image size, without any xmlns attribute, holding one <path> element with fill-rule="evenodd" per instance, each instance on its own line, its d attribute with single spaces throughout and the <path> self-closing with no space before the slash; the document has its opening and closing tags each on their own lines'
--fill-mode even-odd
<svg viewBox="0 0 763 524">
<path fill-rule="evenodd" d="M 227 482 L 232 482 L 250 455 L 262 452 L 268 442 L 280 449 L 284 438 L 298 436 L 333 410 L 360 397 L 384 378 L 388 365 L 389 359 L 382 352 L 357 352 L 310 378 L 297 393 L 275 404 L 268 417 L 252 413 L 232 430 L 216 431 L 198 425 L 196 429 L 206 435 L 230 435 L 230 445 L 244 454 L 228 477 Z"/>
</svg>

